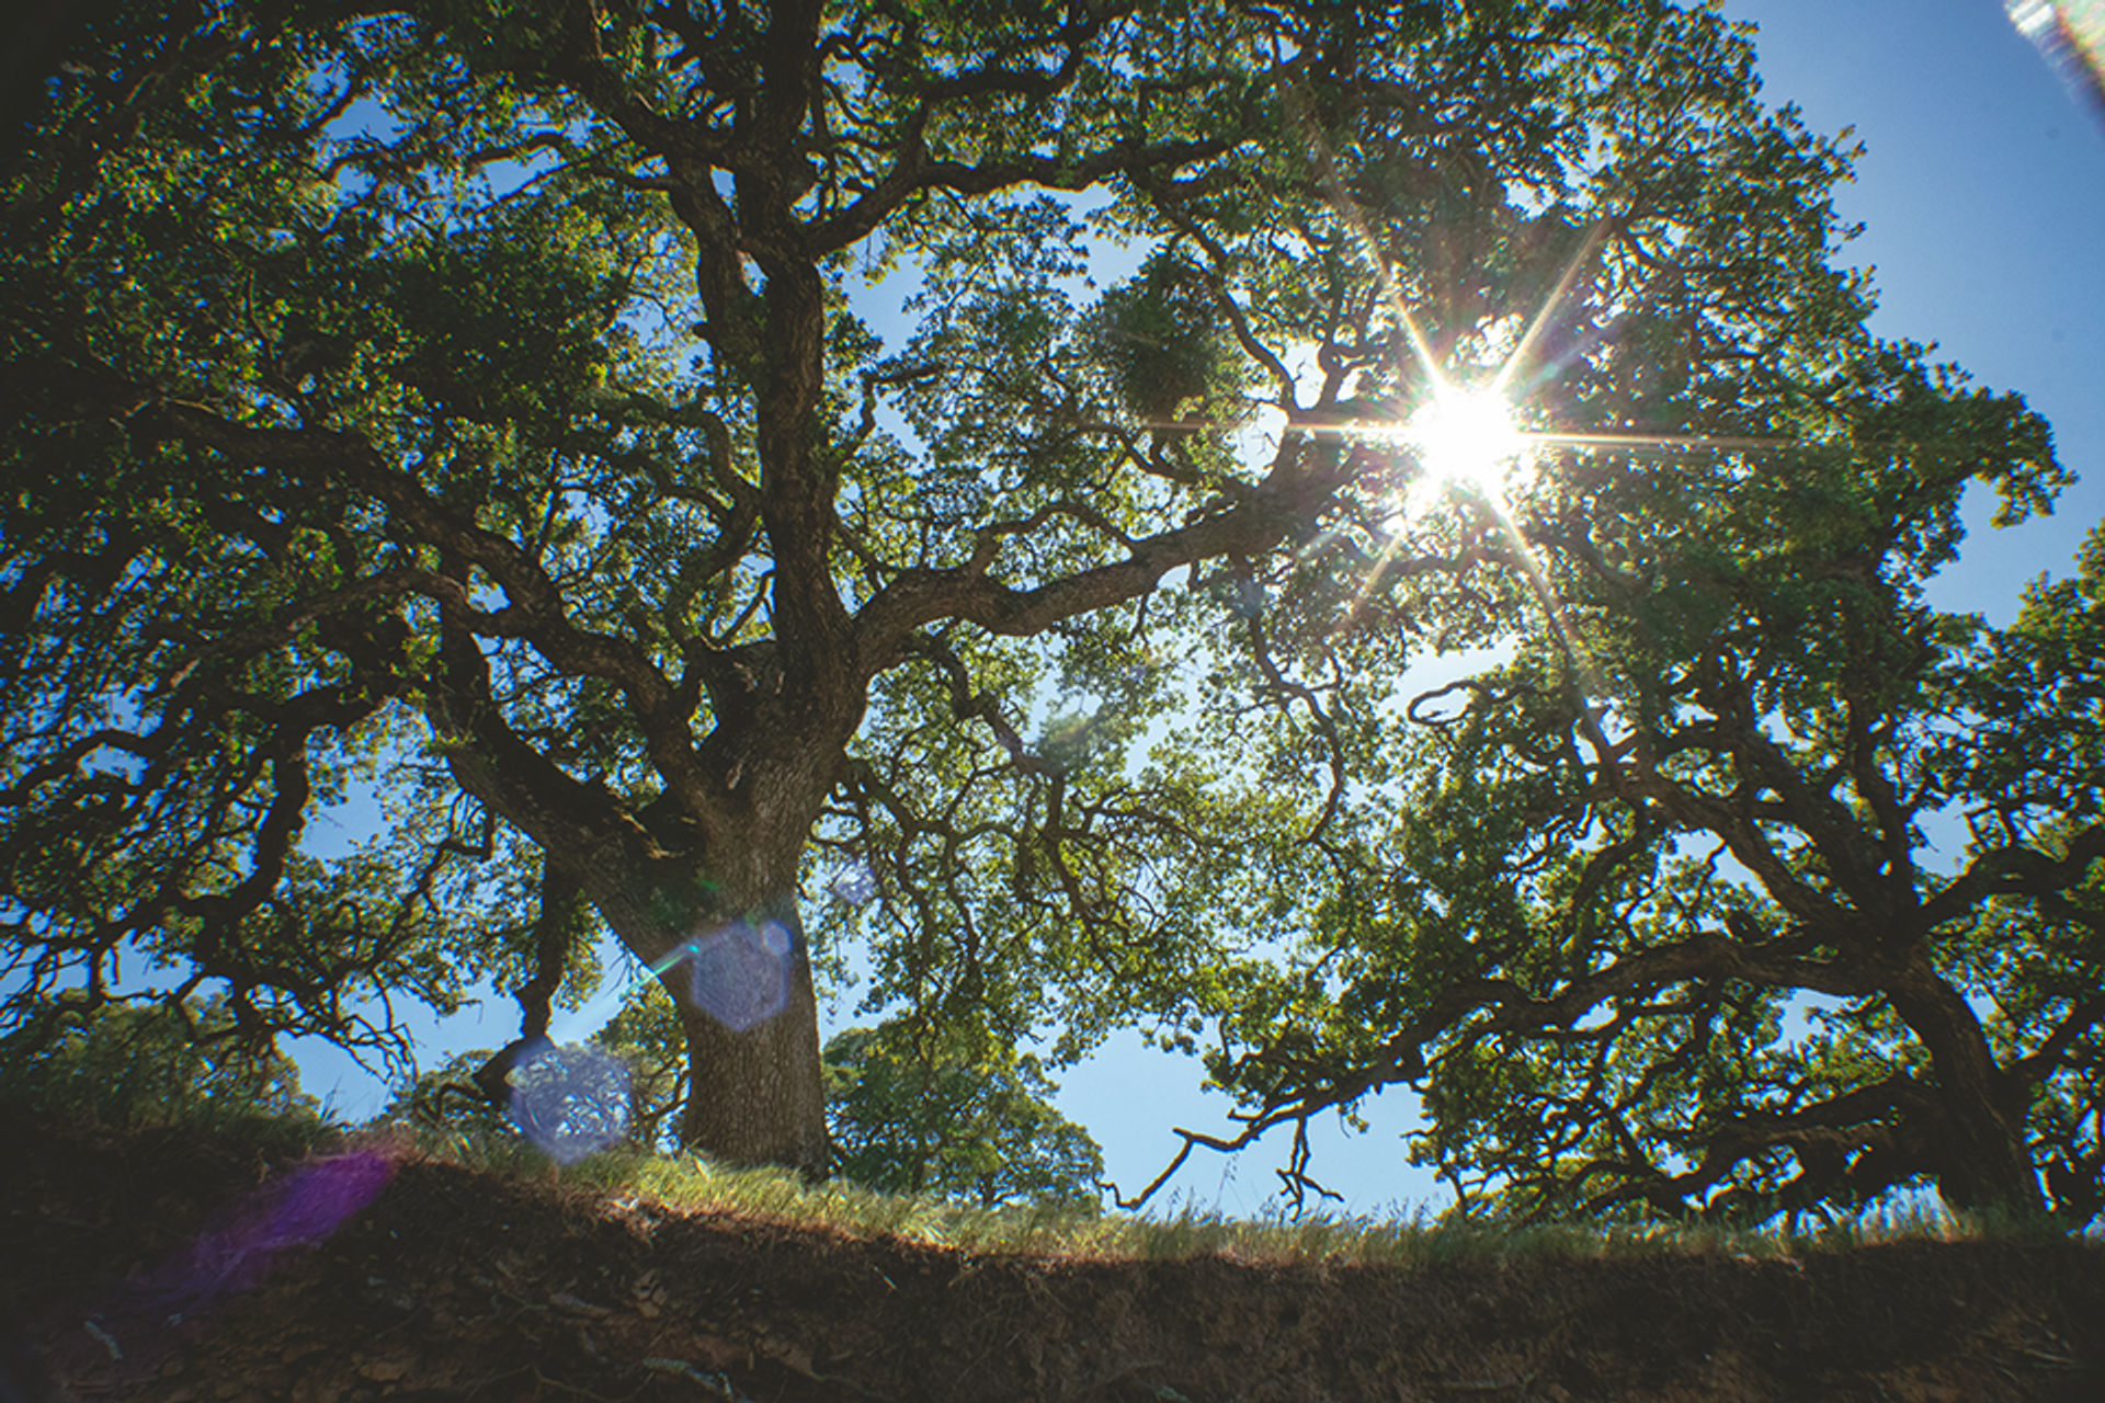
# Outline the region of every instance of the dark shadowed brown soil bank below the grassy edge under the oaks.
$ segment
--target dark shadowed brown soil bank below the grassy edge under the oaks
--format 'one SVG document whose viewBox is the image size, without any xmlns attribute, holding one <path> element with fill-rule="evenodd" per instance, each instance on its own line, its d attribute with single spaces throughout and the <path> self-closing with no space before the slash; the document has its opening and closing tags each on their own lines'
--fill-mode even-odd
<svg viewBox="0 0 2105 1403">
<path fill-rule="evenodd" d="M 2105 1249 L 2065 1241 L 1078 1262 L 406 1161 L 318 1245 L 213 1266 L 265 1172 L 0 1115 L 0 1401 L 2105 1399 Z"/>
</svg>

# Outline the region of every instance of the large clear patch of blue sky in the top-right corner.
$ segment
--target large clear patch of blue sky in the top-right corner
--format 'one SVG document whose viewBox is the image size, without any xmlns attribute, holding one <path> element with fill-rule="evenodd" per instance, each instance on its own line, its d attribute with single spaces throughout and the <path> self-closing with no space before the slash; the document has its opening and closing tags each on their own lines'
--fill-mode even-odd
<svg viewBox="0 0 2105 1403">
<path fill-rule="evenodd" d="M 2006 621 L 2105 515 L 2105 128 L 2000 0 L 1732 0 L 1760 25 L 1764 97 L 1867 145 L 1838 200 L 1878 286 L 1871 326 L 2021 391 L 2082 482 L 2054 520 L 1987 528 L 1937 604 Z"/>
</svg>

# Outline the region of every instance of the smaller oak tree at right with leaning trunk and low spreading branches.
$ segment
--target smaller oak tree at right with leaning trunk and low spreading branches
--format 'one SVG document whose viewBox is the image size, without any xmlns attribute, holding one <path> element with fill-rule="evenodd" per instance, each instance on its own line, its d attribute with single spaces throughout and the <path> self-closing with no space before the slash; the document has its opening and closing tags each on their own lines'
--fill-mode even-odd
<svg viewBox="0 0 2105 1403">
<path fill-rule="evenodd" d="M 1804 377 L 1800 463 L 1511 488 L 1511 656 L 1408 703 L 1391 801 L 1210 1058 L 1244 1127 L 1187 1151 L 1408 1083 L 1465 1214 L 2105 1207 L 2105 534 L 2008 629 L 1932 610 L 1966 482 L 2012 517 L 2057 473 L 1911 353 Z"/>
</svg>

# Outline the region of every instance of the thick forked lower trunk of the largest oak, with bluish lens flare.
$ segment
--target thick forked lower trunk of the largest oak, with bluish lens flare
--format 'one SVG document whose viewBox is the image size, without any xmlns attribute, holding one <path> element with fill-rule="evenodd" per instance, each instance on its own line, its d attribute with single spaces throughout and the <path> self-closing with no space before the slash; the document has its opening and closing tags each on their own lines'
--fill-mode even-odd
<svg viewBox="0 0 2105 1403">
<path fill-rule="evenodd" d="M 432 721 L 455 740 L 455 778 L 533 837 L 674 997 L 690 1073 L 682 1140 L 823 1178 L 819 1003 L 796 881 L 861 692 L 836 688 L 823 705 L 815 673 L 787 673 L 773 644 L 741 646 L 711 682 L 709 738 L 690 751 L 682 715 L 663 743 L 686 793 L 669 787 L 632 810 L 503 724 L 474 639 L 448 633 L 442 656 Z"/>
</svg>

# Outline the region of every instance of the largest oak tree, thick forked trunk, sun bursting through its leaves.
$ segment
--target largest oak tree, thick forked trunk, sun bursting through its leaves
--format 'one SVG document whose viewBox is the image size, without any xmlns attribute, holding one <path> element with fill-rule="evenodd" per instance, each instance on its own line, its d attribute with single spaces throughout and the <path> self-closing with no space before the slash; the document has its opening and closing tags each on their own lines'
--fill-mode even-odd
<svg viewBox="0 0 2105 1403">
<path fill-rule="evenodd" d="M 1221 1075 L 1269 1115 L 1349 1102 L 1379 1062 L 1297 1083 L 1269 1050 L 1307 1012 L 1274 957 L 1314 930 L 1387 959 L 1341 915 L 1377 850 L 1444 881 L 1379 837 L 1383 795 L 1478 785 L 1503 833 L 1495 778 L 1547 766 L 1535 841 L 1581 871 L 1686 822 L 1629 789 L 1682 782 L 1665 759 L 1627 812 L 1549 791 L 1680 724 L 1722 585 L 1638 610 L 1676 642 L 1631 700 L 1560 679 L 1604 652 L 1577 623 L 1486 684 L 1509 717 L 1415 740 L 1394 696 L 1577 597 L 1587 551 L 1648 599 L 1655 553 L 1741 530 L 1631 444 L 1867 496 L 1922 564 L 1958 482 L 2054 482 L 1996 440 L 2017 408 L 1863 332 L 1846 151 L 1764 109 L 1701 8 L 293 2 L 65 36 L 0 229 L 0 919 L 32 1033 L 154 995 L 145 961 L 255 1045 L 392 1045 L 375 999 L 488 976 L 545 1016 L 610 932 L 676 997 L 684 1138 L 735 1161 L 827 1163 L 815 965 L 855 949 L 874 1008 L 966 1041 L 1059 1062 L 1225 1020 L 1267 1045 L 1269 1081 Z M 1551 566 L 1408 429 L 1492 377 L 1593 435 L 1537 454 L 1562 505 L 1518 530 Z M 1848 557 L 1861 627 L 1913 667 L 1884 549 Z M 1897 677 L 1865 686 L 1913 705 Z M 1539 753 L 1558 705 L 1604 747 L 1570 774 Z M 1444 761 L 1459 736 L 1480 761 Z M 316 856 L 373 782 L 381 835 Z"/>
</svg>

